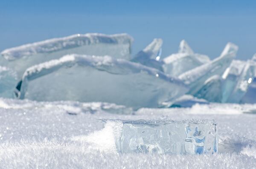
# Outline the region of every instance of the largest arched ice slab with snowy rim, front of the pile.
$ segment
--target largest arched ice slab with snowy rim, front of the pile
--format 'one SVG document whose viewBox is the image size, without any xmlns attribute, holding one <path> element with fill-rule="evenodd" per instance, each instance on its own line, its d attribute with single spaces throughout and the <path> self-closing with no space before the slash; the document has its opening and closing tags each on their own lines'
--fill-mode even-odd
<svg viewBox="0 0 256 169">
<path fill-rule="evenodd" d="M 139 63 L 72 54 L 27 69 L 16 97 L 108 102 L 137 109 L 162 106 L 187 91 L 182 81 Z"/>
</svg>

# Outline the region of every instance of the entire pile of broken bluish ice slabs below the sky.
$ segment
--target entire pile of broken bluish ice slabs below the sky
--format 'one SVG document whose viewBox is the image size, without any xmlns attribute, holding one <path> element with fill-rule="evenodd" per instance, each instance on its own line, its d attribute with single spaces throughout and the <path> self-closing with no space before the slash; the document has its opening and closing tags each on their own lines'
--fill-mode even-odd
<svg viewBox="0 0 256 169">
<path fill-rule="evenodd" d="M 128 34 L 75 34 L 6 49 L 0 59 L 0 97 L 77 100 L 140 107 L 194 102 L 256 103 L 256 55 L 234 60 L 227 43 L 219 57 L 192 51 L 161 58 L 161 39 L 131 57 Z"/>
</svg>

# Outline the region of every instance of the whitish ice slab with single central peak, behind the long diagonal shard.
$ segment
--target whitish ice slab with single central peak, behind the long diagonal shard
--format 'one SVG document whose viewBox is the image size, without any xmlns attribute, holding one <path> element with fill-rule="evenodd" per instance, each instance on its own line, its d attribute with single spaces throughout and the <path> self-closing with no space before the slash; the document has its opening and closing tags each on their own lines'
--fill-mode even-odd
<svg viewBox="0 0 256 169">
<path fill-rule="evenodd" d="M 196 54 L 185 40 L 180 42 L 179 52 L 163 59 L 164 72 L 172 76 L 179 76 L 197 66 L 210 61 L 204 54 Z"/>
</svg>

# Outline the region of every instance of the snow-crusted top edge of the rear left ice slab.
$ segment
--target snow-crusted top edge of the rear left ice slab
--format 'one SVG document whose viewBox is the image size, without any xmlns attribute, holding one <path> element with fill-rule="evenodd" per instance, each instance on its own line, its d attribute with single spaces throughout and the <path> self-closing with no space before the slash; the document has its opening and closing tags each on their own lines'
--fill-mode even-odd
<svg viewBox="0 0 256 169">
<path fill-rule="evenodd" d="M 15 60 L 20 57 L 29 56 L 32 54 L 54 52 L 62 49 L 74 48 L 99 43 L 108 44 L 125 44 L 131 45 L 133 38 L 128 34 L 73 34 L 67 37 L 53 38 L 35 43 L 29 43 L 22 46 L 5 49 L 1 55 L 6 60 Z"/>
</svg>

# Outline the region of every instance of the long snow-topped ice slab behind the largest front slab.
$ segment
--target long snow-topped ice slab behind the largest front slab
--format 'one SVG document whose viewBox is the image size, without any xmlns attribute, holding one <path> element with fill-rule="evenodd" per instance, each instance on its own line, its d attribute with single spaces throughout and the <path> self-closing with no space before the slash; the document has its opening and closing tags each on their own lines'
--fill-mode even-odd
<svg viewBox="0 0 256 169">
<path fill-rule="evenodd" d="M 128 34 L 74 34 L 6 49 L 1 55 L 21 78 L 28 67 L 65 54 L 110 55 L 129 60 L 132 41 Z"/>
</svg>

